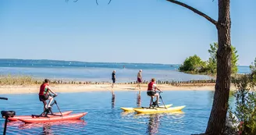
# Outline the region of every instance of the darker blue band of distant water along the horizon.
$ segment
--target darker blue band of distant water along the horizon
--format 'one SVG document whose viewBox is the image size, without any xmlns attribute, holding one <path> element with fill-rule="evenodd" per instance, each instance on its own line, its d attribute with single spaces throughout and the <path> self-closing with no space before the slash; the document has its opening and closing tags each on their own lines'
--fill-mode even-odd
<svg viewBox="0 0 256 135">
<path fill-rule="evenodd" d="M 79 62 L 48 59 L 0 59 L 0 67 L 91 67 L 115 69 L 178 69 L 180 64 L 133 62 Z"/>
</svg>

